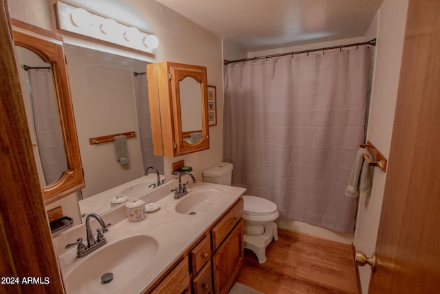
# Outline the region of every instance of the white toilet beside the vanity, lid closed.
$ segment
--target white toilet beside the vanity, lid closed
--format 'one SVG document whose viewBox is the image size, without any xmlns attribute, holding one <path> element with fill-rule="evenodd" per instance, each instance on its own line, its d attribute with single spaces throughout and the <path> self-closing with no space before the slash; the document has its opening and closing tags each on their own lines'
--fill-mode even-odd
<svg viewBox="0 0 440 294">
<path fill-rule="evenodd" d="M 214 184 L 231 185 L 233 165 L 220 162 L 203 171 L 203 181 Z M 256 196 L 243 196 L 245 221 L 245 248 L 254 251 L 259 263 L 266 261 L 266 246 L 272 238 L 278 240 L 278 229 L 274 222 L 280 213 L 276 204 Z"/>
</svg>

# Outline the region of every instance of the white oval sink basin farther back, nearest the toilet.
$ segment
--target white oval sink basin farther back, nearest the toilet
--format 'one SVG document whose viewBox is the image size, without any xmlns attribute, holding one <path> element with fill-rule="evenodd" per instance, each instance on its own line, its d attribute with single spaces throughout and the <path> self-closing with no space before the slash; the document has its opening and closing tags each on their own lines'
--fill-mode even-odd
<svg viewBox="0 0 440 294">
<path fill-rule="evenodd" d="M 220 189 L 201 189 L 189 191 L 175 206 L 175 211 L 180 214 L 195 215 L 206 213 L 219 204 L 225 197 L 225 192 Z"/>
</svg>

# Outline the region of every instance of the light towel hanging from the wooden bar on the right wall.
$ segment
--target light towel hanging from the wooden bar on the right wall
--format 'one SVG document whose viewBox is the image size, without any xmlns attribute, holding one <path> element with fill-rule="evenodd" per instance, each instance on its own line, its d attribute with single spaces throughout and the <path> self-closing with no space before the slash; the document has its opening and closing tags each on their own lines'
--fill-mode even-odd
<svg viewBox="0 0 440 294">
<path fill-rule="evenodd" d="M 350 174 L 349 186 L 345 189 L 345 195 L 347 196 L 358 197 L 359 192 L 366 192 L 371 189 L 371 167 L 364 160 L 364 154 L 371 158 L 371 154 L 365 148 L 358 149 Z"/>
</svg>

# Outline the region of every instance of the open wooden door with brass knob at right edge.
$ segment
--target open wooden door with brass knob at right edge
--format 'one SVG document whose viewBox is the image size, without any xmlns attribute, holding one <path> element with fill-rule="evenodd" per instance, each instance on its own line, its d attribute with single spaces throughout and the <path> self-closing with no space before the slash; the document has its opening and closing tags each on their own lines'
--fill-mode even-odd
<svg viewBox="0 0 440 294">
<path fill-rule="evenodd" d="M 439 16 L 440 1 L 409 1 L 369 293 L 439 293 Z"/>
</svg>

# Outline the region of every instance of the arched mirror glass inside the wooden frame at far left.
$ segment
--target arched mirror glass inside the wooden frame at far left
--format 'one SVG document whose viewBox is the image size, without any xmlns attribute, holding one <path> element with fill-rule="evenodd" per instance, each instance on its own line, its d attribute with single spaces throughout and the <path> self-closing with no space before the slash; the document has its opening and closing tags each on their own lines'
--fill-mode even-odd
<svg viewBox="0 0 440 294">
<path fill-rule="evenodd" d="M 36 168 L 45 187 L 68 169 L 52 65 L 27 48 L 15 46 L 15 52 Z"/>
</svg>

